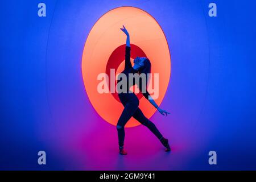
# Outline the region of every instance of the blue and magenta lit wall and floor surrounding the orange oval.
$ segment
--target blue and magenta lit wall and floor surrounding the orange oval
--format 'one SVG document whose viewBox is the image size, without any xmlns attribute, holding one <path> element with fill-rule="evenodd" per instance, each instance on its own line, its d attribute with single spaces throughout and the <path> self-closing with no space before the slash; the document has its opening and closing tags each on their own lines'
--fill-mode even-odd
<svg viewBox="0 0 256 182">
<path fill-rule="evenodd" d="M 255 1 L 1 2 L 0 169 L 256 169 Z M 217 5 L 217 17 L 208 5 Z M 86 38 L 121 6 L 138 7 L 162 27 L 171 78 L 150 119 L 170 139 L 166 154 L 143 126 L 117 132 L 93 109 L 81 75 Z M 147 152 L 143 152 L 146 148 Z M 38 151 L 47 164 L 38 164 Z M 208 152 L 217 152 L 210 166 Z"/>
</svg>

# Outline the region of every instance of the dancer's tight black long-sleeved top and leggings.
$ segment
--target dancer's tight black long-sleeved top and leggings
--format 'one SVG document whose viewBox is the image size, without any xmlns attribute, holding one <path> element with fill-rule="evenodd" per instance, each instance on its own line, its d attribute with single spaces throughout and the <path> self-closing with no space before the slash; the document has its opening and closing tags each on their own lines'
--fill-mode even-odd
<svg viewBox="0 0 256 182">
<path fill-rule="evenodd" d="M 133 69 L 133 67 L 131 67 L 130 51 L 131 51 L 131 48 L 126 46 L 125 70 L 122 73 L 124 73 L 126 75 L 127 80 L 128 80 L 129 73 L 137 73 L 138 72 L 135 69 Z M 134 85 L 134 83 L 131 85 Z M 152 123 L 149 119 L 147 119 L 144 116 L 144 114 L 142 113 L 141 109 L 139 109 L 139 107 L 138 107 L 139 100 L 138 100 L 137 96 L 134 93 L 128 92 L 129 86 L 131 86 L 131 85 L 127 85 L 126 93 L 118 93 L 118 97 L 119 97 L 122 105 L 125 107 L 122 111 L 120 118 L 118 119 L 118 122 L 117 122 L 119 147 L 123 146 L 123 142 L 125 140 L 125 125 L 131 117 L 134 117 L 135 119 L 137 119 L 137 121 L 142 123 L 142 125 L 148 127 L 148 129 L 150 129 L 150 131 L 152 131 L 152 133 L 154 133 L 158 139 L 163 137 L 163 135 L 159 132 L 159 130 L 154 125 L 154 123 Z M 141 82 L 139 83 L 139 90 L 143 90 Z M 148 99 L 148 96 L 150 96 L 150 94 L 147 91 L 142 94 L 147 99 Z"/>
</svg>

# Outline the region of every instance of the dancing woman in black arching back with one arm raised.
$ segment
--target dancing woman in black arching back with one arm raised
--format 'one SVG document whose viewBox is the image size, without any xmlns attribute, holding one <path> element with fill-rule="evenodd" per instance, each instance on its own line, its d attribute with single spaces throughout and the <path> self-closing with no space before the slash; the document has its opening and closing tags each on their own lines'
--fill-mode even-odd
<svg viewBox="0 0 256 182">
<path fill-rule="evenodd" d="M 125 52 L 125 70 L 122 72 L 126 75 L 128 80 L 129 73 L 144 73 L 147 76 L 147 73 L 150 73 L 151 69 L 151 63 L 150 60 L 148 60 L 146 57 L 136 57 L 134 59 L 134 67 L 131 66 L 131 60 L 130 60 L 130 35 L 126 28 L 123 26 L 123 28 L 120 28 L 127 36 L 126 38 L 126 52 Z M 121 81 L 118 80 L 118 82 Z M 137 119 L 142 125 L 148 127 L 152 133 L 160 140 L 160 142 L 163 144 L 164 147 L 166 147 L 165 151 L 171 151 L 171 148 L 168 143 L 168 139 L 164 138 L 163 135 L 159 132 L 159 130 L 156 128 L 154 123 L 152 123 L 149 119 L 147 119 L 144 114 L 142 113 L 141 109 L 139 109 L 139 100 L 137 96 L 133 92 L 129 92 L 129 88 L 131 85 L 134 85 L 134 81 L 132 84 L 130 84 L 127 81 L 127 87 L 126 92 L 118 92 L 118 97 L 120 101 L 122 102 L 122 105 L 125 107 L 123 109 L 122 114 L 118 120 L 117 123 L 117 131 L 118 131 L 118 143 L 119 143 L 119 154 L 126 155 L 127 152 L 123 148 L 123 142 L 125 140 L 125 125 L 129 121 L 131 117 L 134 117 Z M 146 90 L 146 88 L 142 87 L 142 81 L 139 82 L 139 90 Z M 147 85 L 147 77 L 146 77 L 146 84 Z M 147 92 L 142 92 L 143 96 L 150 101 L 150 103 L 158 109 L 158 111 L 164 115 L 170 114 L 165 110 L 160 109 L 160 107 L 155 103 L 155 101 L 152 99 L 150 94 Z"/>
</svg>

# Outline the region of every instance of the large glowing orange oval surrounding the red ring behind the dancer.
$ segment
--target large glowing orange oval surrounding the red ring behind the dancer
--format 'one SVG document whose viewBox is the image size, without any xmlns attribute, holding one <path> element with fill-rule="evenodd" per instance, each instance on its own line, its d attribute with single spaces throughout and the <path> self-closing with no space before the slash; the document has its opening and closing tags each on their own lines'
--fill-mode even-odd
<svg viewBox="0 0 256 182">
<path fill-rule="evenodd" d="M 112 125 L 117 124 L 123 106 L 113 94 L 98 93 L 97 86 L 100 81 L 97 77 L 100 73 L 106 73 L 106 66 L 113 51 L 125 44 L 126 36 L 120 30 L 122 25 L 129 31 L 131 44 L 139 47 L 151 61 L 152 75 L 159 74 L 159 97 L 155 100 L 157 104 L 163 101 L 171 75 L 171 56 L 166 37 L 150 14 L 135 7 L 118 7 L 102 15 L 92 27 L 85 42 L 82 53 L 82 78 L 94 109 Z M 120 53 L 125 56 L 125 51 Z M 123 66 L 123 63 L 119 63 L 116 67 L 122 70 Z M 141 98 L 139 107 L 147 118 L 156 111 L 145 98 Z M 138 125 L 140 123 L 131 118 L 126 127 Z"/>
</svg>

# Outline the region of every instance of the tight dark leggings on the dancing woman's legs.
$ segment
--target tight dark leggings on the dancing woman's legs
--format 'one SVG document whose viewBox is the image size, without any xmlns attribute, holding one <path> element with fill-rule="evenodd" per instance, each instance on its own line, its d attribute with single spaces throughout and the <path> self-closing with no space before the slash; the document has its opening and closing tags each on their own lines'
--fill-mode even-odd
<svg viewBox="0 0 256 182">
<path fill-rule="evenodd" d="M 125 140 L 125 125 L 131 117 L 134 117 L 140 123 L 142 123 L 142 125 L 150 129 L 150 131 L 152 131 L 152 133 L 154 133 L 158 139 L 163 137 L 154 123 L 147 119 L 142 113 L 141 109 L 139 109 L 139 100 L 134 93 L 119 93 L 118 96 L 123 106 L 125 107 L 117 122 L 119 147 L 123 146 L 123 142 Z"/>
</svg>

